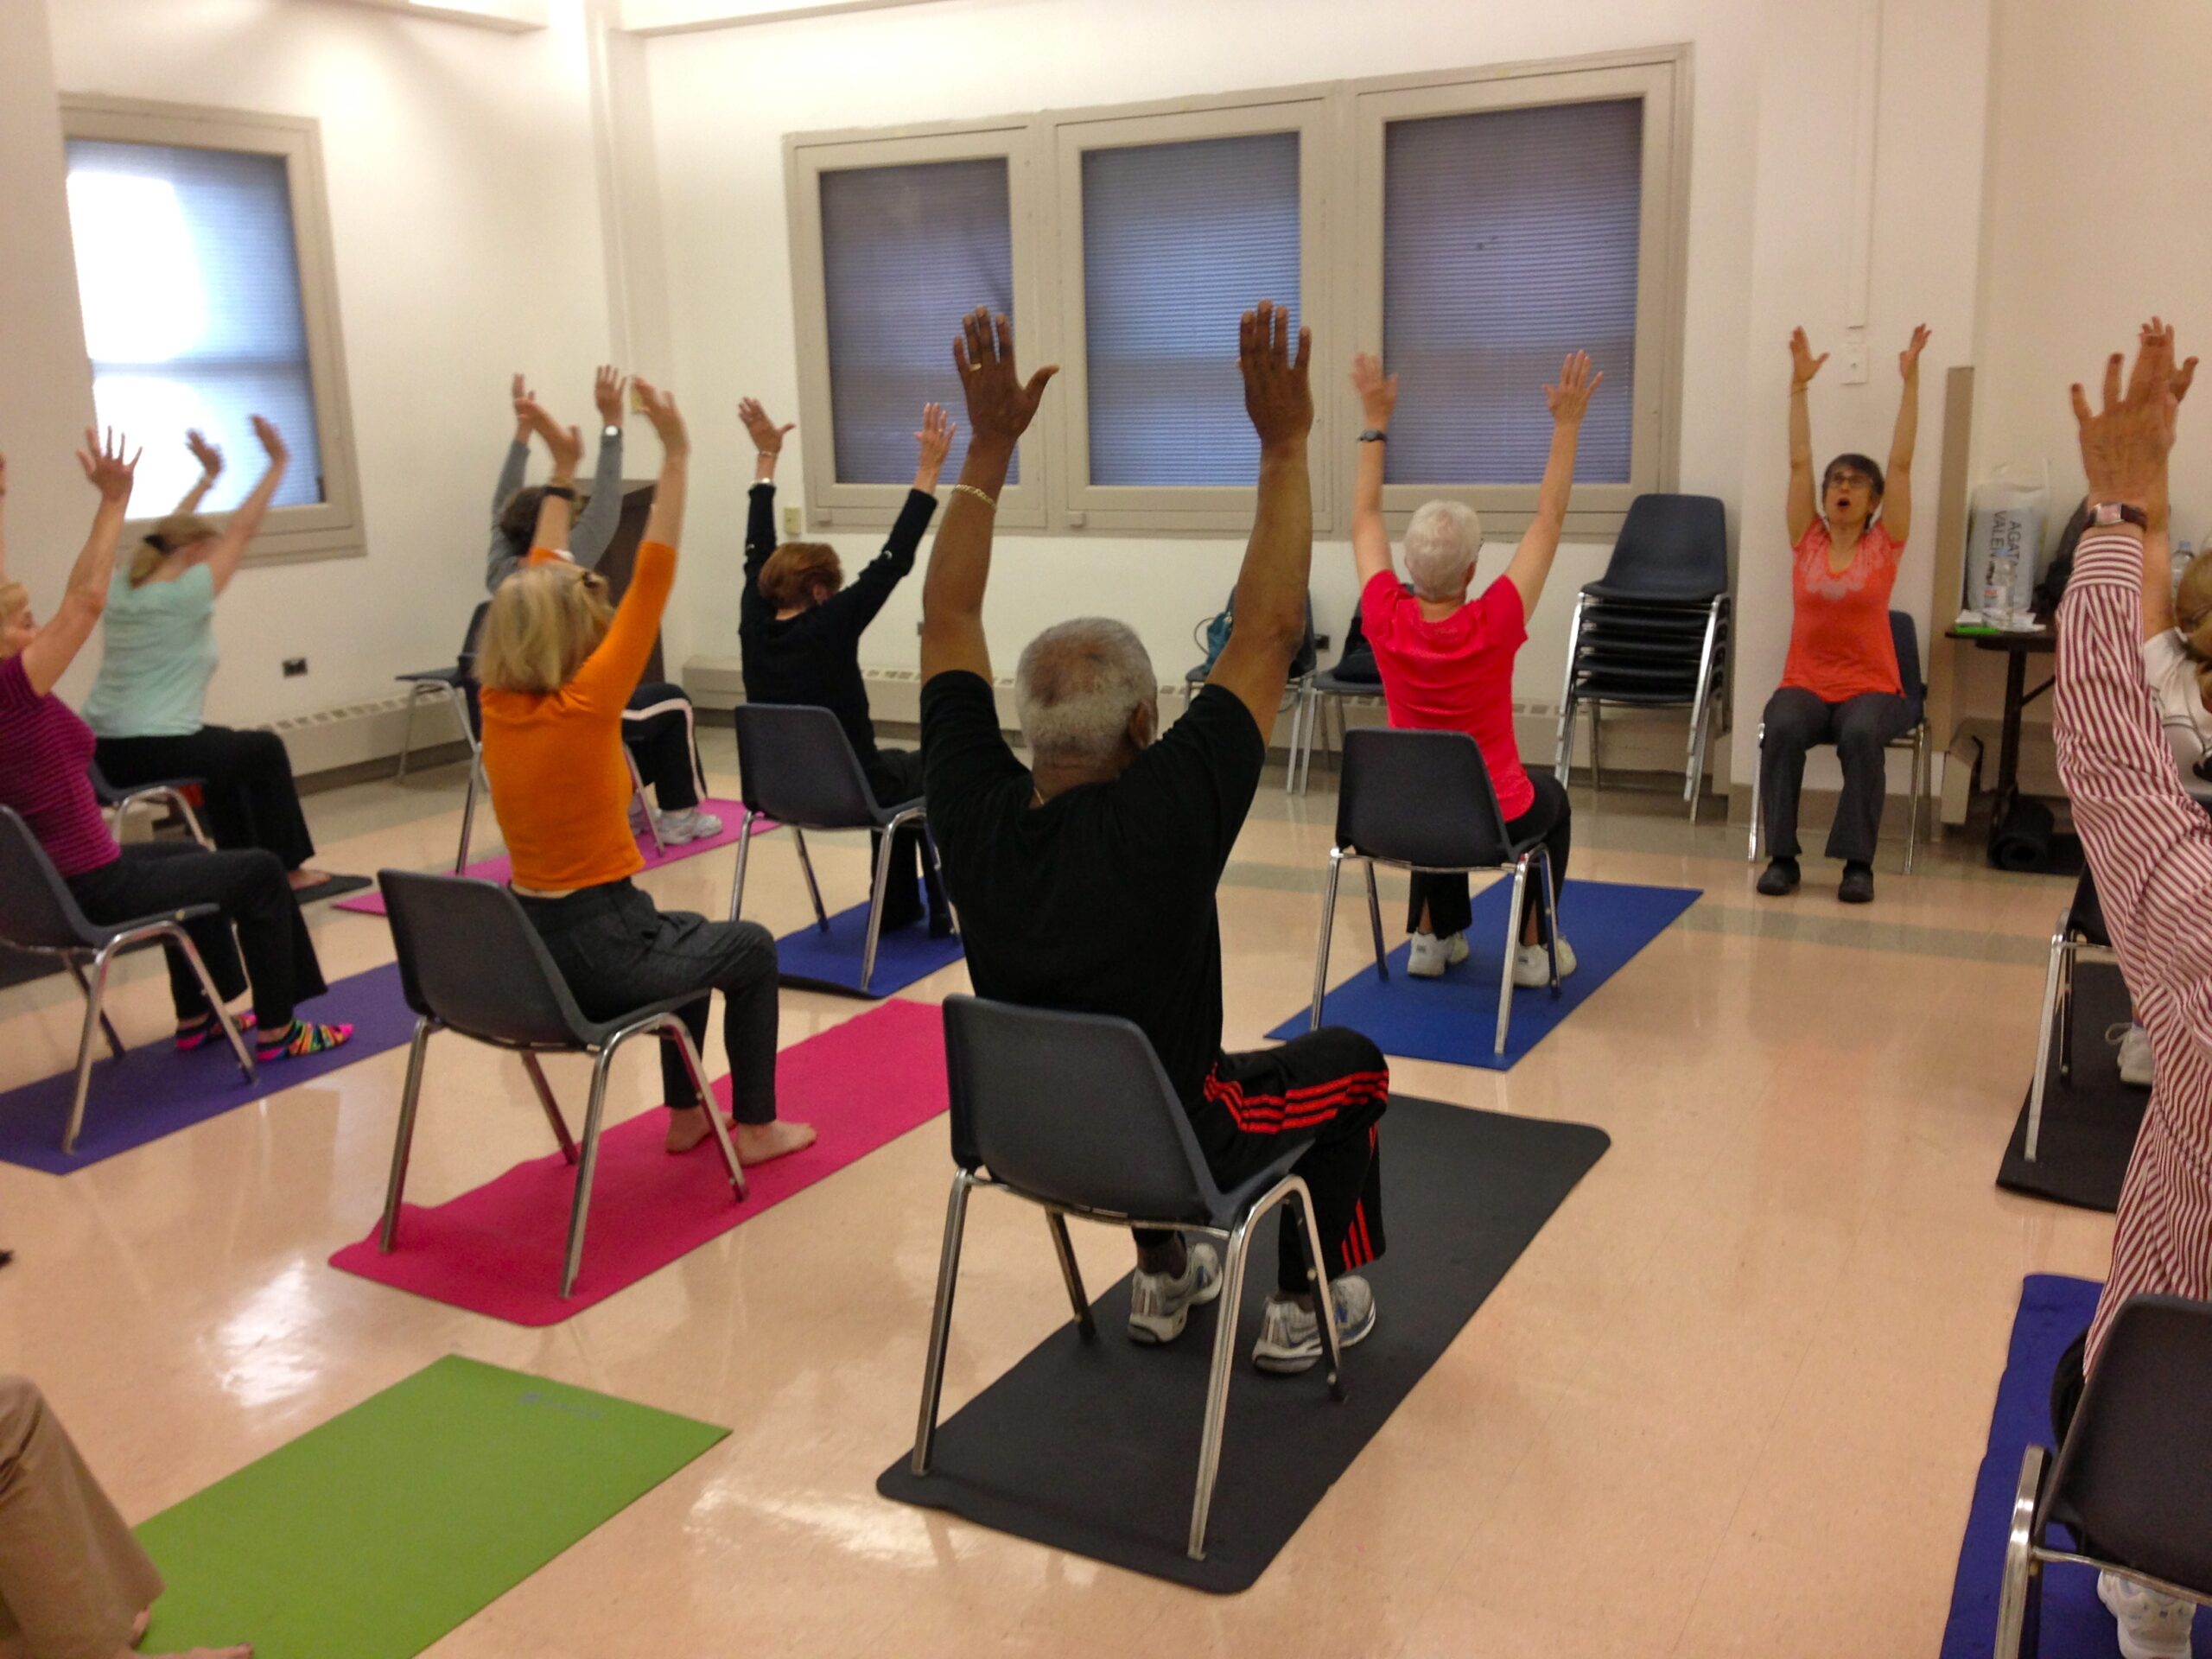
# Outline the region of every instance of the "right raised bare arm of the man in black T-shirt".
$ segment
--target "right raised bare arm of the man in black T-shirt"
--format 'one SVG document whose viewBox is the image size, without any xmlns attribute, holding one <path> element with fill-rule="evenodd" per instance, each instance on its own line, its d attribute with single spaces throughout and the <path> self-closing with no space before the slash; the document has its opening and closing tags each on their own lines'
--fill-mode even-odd
<svg viewBox="0 0 2212 1659">
<path fill-rule="evenodd" d="M 1237 367 L 1245 383 L 1245 414 L 1259 431 L 1259 511 L 1237 575 L 1237 619 L 1214 659 L 1208 686 L 1241 701 L 1261 739 L 1274 730 L 1290 659 L 1305 639 L 1305 586 L 1314 566 L 1314 482 L 1305 442 L 1314 427 L 1314 387 L 1307 361 L 1314 332 L 1298 330 L 1290 349 L 1290 312 L 1261 301 L 1237 332 Z"/>
</svg>

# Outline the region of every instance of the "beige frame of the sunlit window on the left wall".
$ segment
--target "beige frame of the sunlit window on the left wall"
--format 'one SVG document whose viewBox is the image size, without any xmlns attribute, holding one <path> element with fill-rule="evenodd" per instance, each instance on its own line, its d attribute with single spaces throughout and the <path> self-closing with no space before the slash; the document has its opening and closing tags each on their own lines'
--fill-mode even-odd
<svg viewBox="0 0 2212 1659">
<path fill-rule="evenodd" d="M 246 549 L 248 564 L 303 564 L 365 557 L 367 524 L 361 511 L 361 467 L 354 449 L 352 394 L 345 378 L 345 338 L 338 325 L 336 254 L 330 239 L 330 195 L 323 177 L 323 124 L 312 115 L 166 104 L 144 97 L 64 93 L 62 139 L 150 144 L 232 155 L 276 155 L 285 161 L 292 197 L 292 259 L 307 336 L 307 378 L 314 394 L 316 440 L 323 458 L 323 500 L 312 507 L 272 507 L 261 533 Z M 75 250 L 71 250 L 75 261 Z M 88 354 L 86 354 L 88 361 Z M 139 434 L 133 434 L 137 440 Z M 184 434 L 144 434 L 146 442 Z M 232 465 L 252 465 L 232 456 Z M 139 502 L 126 538 L 168 513 L 168 502 Z"/>
</svg>

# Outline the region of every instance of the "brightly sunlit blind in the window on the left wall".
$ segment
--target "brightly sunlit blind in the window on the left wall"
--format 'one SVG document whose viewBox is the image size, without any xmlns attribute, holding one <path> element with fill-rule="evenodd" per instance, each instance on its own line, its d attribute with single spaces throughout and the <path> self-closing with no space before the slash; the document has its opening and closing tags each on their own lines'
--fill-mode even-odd
<svg viewBox="0 0 2212 1659">
<path fill-rule="evenodd" d="M 199 427 L 226 467 L 206 511 L 261 478 L 250 416 L 292 451 L 276 507 L 323 500 L 307 319 L 281 155 L 69 142 L 69 226 L 102 425 L 146 445 L 133 513 L 168 511 L 199 478 Z"/>
</svg>

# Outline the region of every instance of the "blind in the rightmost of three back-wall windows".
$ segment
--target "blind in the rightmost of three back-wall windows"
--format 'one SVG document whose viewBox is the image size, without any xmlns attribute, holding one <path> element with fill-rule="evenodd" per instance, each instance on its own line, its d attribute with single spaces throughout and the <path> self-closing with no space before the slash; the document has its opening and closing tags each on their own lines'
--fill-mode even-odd
<svg viewBox="0 0 2212 1659">
<path fill-rule="evenodd" d="M 1389 482 L 1540 482 L 1575 349 L 1606 376 L 1575 478 L 1628 482 L 1644 102 L 1391 122 L 1383 168 Z"/>
</svg>

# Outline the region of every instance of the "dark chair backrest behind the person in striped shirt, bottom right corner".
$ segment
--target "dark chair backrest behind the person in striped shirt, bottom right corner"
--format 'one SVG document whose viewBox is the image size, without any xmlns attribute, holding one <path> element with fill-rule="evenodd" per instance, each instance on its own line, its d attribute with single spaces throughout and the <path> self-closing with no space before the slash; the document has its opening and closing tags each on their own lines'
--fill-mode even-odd
<svg viewBox="0 0 2212 1659">
<path fill-rule="evenodd" d="M 2108 1559 L 2212 1595 L 2212 1303 L 2130 1296 L 2106 1332 L 2051 1517 Z"/>
</svg>

